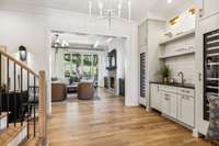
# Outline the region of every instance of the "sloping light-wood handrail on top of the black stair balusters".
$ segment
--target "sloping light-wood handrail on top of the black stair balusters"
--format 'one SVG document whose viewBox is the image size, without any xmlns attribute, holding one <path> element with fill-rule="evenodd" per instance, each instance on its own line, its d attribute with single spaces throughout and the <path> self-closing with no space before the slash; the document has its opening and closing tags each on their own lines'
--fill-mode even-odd
<svg viewBox="0 0 219 146">
<path fill-rule="evenodd" d="M 36 72 L 34 72 L 34 70 L 32 70 L 28 66 L 26 66 L 22 61 L 15 59 L 10 54 L 8 54 L 8 53 L 5 53 L 5 52 L 3 52 L 1 49 L 0 49 L 0 54 L 3 55 L 4 57 L 9 58 L 10 60 L 14 61 L 15 64 L 18 64 L 19 66 L 21 66 L 22 68 L 24 68 L 26 71 L 28 71 L 28 72 L 33 74 L 34 76 L 38 77 L 38 75 Z"/>
</svg>

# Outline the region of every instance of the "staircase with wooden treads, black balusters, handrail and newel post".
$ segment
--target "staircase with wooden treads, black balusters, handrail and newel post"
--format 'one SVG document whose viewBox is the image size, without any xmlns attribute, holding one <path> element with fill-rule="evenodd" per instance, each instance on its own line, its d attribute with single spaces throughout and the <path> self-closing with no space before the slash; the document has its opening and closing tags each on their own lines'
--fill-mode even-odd
<svg viewBox="0 0 219 146">
<path fill-rule="evenodd" d="M 5 49 L 0 46 L 0 146 L 24 145 L 31 138 L 46 143 L 45 72 L 38 76 Z"/>
</svg>

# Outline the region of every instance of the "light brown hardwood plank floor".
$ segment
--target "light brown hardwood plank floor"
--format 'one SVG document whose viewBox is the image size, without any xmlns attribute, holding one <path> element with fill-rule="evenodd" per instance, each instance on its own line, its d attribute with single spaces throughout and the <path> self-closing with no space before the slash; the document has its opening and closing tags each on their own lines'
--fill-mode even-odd
<svg viewBox="0 0 219 146">
<path fill-rule="evenodd" d="M 209 146 L 155 112 L 124 106 L 123 98 L 99 93 L 97 101 L 53 105 L 50 146 Z"/>
</svg>

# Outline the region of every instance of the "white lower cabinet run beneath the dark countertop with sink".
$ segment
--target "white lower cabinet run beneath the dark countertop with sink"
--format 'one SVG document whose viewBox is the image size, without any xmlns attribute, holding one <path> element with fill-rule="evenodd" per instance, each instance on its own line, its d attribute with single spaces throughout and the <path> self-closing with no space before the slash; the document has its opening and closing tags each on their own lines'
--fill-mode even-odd
<svg viewBox="0 0 219 146">
<path fill-rule="evenodd" d="M 195 125 L 194 89 L 151 85 L 151 108 L 191 127 Z"/>
</svg>

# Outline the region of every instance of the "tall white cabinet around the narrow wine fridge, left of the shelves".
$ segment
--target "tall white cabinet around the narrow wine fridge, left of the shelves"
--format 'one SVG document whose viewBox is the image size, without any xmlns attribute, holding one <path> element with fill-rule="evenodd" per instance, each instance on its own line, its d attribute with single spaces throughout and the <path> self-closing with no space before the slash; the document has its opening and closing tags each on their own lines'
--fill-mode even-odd
<svg viewBox="0 0 219 146">
<path fill-rule="evenodd" d="M 138 56 L 139 56 L 139 77 L 140 74 L 145 74 L 145 94 L 142 97 L 142 82 L 139 78 L 139 104 L 146 105 L 147 108 L 150 105 L 150 87 L 149 81 L 155 80 L 153 76 L 160 68 L 160 60 L 158 58 L 159 40 L 161 36 L 158 34 L 162 34 L 163 26 L 165 25 L 164 21 L 157 20 L 146 20 L 138 26 Z M 145 69 L 143 71 L 140 68 L 140 57 L 145 53 Z M 140 72 L 141 71 L 141 72 Z"/>
</svg>

